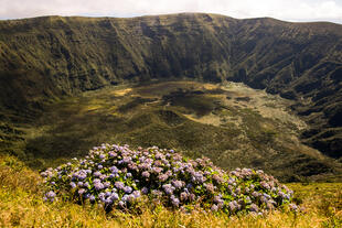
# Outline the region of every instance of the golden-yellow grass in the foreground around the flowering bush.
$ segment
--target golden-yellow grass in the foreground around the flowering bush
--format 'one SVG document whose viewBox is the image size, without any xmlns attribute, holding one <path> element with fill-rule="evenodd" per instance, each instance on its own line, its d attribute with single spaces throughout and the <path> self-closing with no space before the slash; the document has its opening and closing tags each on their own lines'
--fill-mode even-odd
<svg viewBox="0 0 342 228">
<path fill-rule="evenodd" d="M 341 183 L 289 184 L 302 213 L 272 211 L 266 216 L 234 216 L 171 211 L 141 205 L 139 211 L 114 210 L 65 202 L 42 200 L 38 173 L 14 158 L 0 156 L 1 227 L 341 227 Z"/>
</svg>

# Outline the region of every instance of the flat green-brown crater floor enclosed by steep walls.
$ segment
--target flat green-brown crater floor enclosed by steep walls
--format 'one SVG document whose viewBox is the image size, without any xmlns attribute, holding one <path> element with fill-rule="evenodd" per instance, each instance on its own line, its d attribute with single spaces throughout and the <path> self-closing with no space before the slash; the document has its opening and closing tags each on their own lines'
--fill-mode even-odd
<svg viewBox="0 0 342 228">
<path fill-rule="evenodd" d="M 120 85 L 47 104 L 24 124 L 3 124 L 0 150 L 43 169 L 103 142 L 157 145 L 207 156 L 223 169 L 261 169 L 281 181 L 339 180 L 336 162 L 300 143 L 306 124 L 288 111 L 291 104 L 234 83 Z"/>
</svg>

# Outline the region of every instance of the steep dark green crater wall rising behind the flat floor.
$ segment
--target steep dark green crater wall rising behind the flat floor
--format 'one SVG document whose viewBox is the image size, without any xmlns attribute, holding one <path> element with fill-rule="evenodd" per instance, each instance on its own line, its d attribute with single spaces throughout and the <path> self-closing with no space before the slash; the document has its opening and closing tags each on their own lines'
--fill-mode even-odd
<svg viewBox="0 0 342 228">
<path fill-rule="evenodd" d="M 0 21 L 0 119 L 152 78 L 243 82 L 297 100 L 303 141 L 342 153 L 342 25 L 205 13 Z M 14 115 L 14 116 L 15 116 Z"/>
</svg>

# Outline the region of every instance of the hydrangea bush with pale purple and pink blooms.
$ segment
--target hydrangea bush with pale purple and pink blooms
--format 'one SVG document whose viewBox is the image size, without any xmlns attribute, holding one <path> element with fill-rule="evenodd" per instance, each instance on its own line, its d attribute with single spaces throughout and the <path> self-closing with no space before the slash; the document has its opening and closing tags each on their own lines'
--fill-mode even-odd
<svg viewBox="0 0 342 228">
<path fill-rule="evenodd" d="M 225 172 L 209 159 L 190 160 L 157 146 L 101 144 L 82 160 L 41 173 L 45 200 L 88 200 L 106 209 L 133 208 L 141 198 L 167 207 L 263 214 L 291 204 L 292 191 L 263 171 Z"/>
</svg>

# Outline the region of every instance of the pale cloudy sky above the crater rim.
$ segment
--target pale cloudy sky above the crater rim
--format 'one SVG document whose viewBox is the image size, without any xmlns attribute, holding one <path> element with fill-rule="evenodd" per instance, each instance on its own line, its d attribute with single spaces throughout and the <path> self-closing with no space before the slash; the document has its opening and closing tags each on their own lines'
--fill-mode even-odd
<svg viewBox="0 0 342 228">
<path fill-rule="evenodd" d="M 136 17 L 177 12 L 342 23 L 342 0 L 0 0 L 0 19 L 39 15 Z"/>
</svg>

